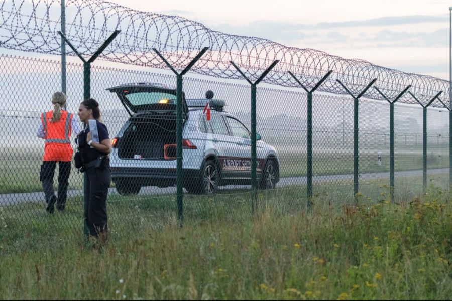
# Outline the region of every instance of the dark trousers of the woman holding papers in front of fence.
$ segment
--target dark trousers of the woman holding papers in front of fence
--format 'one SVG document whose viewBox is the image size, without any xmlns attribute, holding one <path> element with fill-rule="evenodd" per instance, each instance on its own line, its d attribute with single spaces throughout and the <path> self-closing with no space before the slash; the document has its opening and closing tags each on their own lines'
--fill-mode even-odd
<svg viewBox="0 0 452 301">
<path fill-rule="evenodd" d="M 86 170 L 88 178 L 88 206 L 84 216 L 91 236 L 99 236 L 107 230 L 106 198 L 110 186 L 110 168 L 106 166 L 102 170 L 91 167 Z"/>
</svg>

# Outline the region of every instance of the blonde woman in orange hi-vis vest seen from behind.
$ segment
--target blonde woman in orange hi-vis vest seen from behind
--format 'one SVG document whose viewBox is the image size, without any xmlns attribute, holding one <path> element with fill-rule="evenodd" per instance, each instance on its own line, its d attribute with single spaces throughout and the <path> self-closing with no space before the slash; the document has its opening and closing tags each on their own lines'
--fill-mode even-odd
<svg viewBox="0 0 452 301">
<path fill-rule="evenodd" d="M 62 110 L 66 104 L 66 95 L 55 92 L 52 96 L 53 110 L 41 114 L 38 127 L 38 137 L 45 141 L 44 157 L 39 178 L 44 190 L 47 212 L 53 213 L 55 203 L 59 211 L 66 205 L 67 187 L 71 172 L 72 146 L 71 132 L 77 135 L 80 132 L 78 122 L 73 114 Z M 58 197 L 53 191 L 53 176 L 58 162 Z"/>
</svg>

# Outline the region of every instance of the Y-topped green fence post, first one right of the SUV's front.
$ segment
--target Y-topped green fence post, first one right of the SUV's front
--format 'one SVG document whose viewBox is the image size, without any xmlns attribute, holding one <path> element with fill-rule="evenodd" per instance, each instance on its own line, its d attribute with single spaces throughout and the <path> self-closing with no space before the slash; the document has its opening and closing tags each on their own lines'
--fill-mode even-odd
<svg viewBox="0 0 452 301">
<path fill-rule="evenodd" d="M 309 91 L 306 87 L 295 77 L 295 75 L 288 71 L 288 73 L 295 79 L 295 81 L 307 93 L 307 206 L 312 205 L 312 93 L 331 75 L 332 70 L 328 71 L 322 79 Z"/>
</svg>

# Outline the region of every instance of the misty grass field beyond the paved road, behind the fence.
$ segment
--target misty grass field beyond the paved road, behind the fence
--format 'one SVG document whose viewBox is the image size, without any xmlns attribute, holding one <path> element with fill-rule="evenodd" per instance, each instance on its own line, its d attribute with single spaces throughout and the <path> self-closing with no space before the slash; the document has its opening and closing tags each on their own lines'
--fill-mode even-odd
<svg viewBox="0 0 452 301">
<path fill-rule="evenodd" d="M 0 160 L 0 194 L 42 191 L 39 181 L 42 150 L 23 148 L 3 148 Z M 306 153 L 289 151 L 281 147 L 279 150 L 281 177 L 306 176 Z M 377 163 L 376 153 L 366 150 L 360 153 L 360 173 L 388 172 L 389 155 L 382 155 L 382 165 Z M 421 170 L 422 152 L 408 148 L 399 149 L 395 154 L 395 171 Z M 449 167 L 448 148 L 429 150 L 427 154 L 429 169 Z M 313 175 L 341 175 L 353 173 L 353 149 L 326 150 L 313 153 Z M 55 189 L 57 172 L 55 173 Z M 83 175 L 75 168 L 71 170 L 69 189 L 80 189 L 83 186 Z"/>
</svg>

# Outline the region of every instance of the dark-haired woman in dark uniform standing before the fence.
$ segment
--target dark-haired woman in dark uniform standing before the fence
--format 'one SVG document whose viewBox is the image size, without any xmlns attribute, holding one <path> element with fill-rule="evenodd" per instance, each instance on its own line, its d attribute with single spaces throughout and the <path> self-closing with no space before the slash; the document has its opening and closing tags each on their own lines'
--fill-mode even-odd
<svg viewBox="0 0 452 301">
<path fill-rule="evenodd" d="M 111 146 L 108 138 L 108 130 L 105 124 L 99 121 L 99 104 L 90 98 L 83 101 L 78 108 L 80 121 L 85 123 L 85 130 L 78 136 L 78 148 L 83 162 L 83 168 L 88 178 L 87 193 L 88 204 L 85 208 L 84 217 L 89 229 L 89 234 L 93 237 L 100 235 L 106 239 L 107 233 L 107 212 L 106 198 L 108 187 L 110 186 L 110 164 L 108 154 Z M 91 129 L 89 126 L 91 121 Z M 98 139 L 96 139 L 93 126 L 97 126 Z M 91 134 L 93 131 L 93 134 Z M 93 141 L 98 140 L 97 141 Z"/>
</svg>

